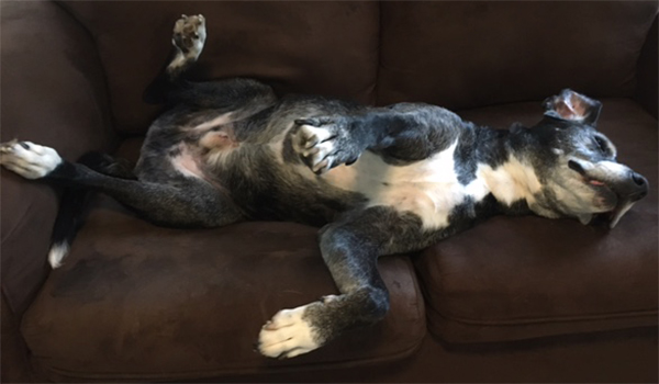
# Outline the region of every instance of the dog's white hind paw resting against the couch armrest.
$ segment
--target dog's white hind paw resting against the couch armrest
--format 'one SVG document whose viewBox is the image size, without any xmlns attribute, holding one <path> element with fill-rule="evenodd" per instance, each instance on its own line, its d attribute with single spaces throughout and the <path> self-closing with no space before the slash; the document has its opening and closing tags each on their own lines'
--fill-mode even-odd
<svg viewBox="0 0 659 384">
<path fill-rule="evenodd" d="M 41 179 L 60 163 L 53 148 L 19 140 L 0 144 L 0 165 L 25 179 Z"/>
</svg>

